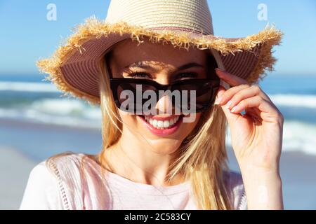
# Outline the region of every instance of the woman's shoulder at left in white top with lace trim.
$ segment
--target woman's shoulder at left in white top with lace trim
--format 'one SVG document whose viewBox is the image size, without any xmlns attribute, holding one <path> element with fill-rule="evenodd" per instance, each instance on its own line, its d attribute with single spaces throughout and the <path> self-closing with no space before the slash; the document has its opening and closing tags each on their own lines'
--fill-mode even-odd
<svg viewBox="0 0 316 224">
<path fill-rule="evenodd" d="M 79 167 L 83 157 L 63 153 L 36 165 L 29 174 L 20 209 L 74 209 L 73 198 L 81 190 Z"/>
</svg>

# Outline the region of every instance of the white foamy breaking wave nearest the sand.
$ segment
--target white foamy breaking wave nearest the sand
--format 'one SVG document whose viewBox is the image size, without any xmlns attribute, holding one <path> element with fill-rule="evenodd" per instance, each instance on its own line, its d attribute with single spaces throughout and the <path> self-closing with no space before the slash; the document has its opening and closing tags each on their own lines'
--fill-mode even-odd
<svg viewBox="0 0 316 224">
<path fill-rule="evenodd" d="M 89 127 L 100 129 L 99 106 L 91 106 L 77 99 L 40 99 L 27 106 L 0 108 L 0 118 L 29 120 L 39 123 Z M 285 120 L 284 151 L 303 151 L 316 155 L 316 125 L 299 120 Z M 228 129 L 227 144 L 230 143 Z"/>
</svg>

